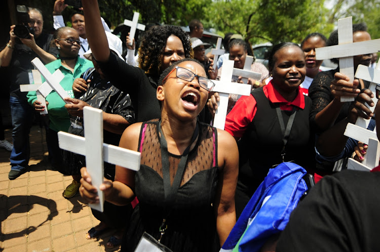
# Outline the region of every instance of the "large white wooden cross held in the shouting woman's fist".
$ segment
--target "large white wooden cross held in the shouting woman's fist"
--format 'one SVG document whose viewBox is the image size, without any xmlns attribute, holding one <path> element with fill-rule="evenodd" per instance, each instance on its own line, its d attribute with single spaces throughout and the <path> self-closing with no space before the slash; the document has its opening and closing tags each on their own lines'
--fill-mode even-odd
<svg viewBox="0 0 380 252">
<path fill-rule="evenodd" d="M 99 203 L 90 204 L 103 212 L 104 193 L 99 186 L 104 181 L 103 162 L 108 162 L 138 171 L 140 169 L 140 152 L 103 143 L 103 111 L 93 107 L 83 108 L 85 137 L 58 132 L 59 148 L 86 156 L 87 172 L 92 185 L 98 189 Z M 87 125 L 87 127 L 86 127 Z"/>
</svg>

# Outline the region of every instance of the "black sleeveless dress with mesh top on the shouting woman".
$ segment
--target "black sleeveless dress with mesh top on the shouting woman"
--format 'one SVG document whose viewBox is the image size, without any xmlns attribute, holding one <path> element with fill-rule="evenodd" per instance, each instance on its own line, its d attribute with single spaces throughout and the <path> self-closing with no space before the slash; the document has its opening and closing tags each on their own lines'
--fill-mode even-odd
<svg viewBox="0 0 380 252">
<path fill-rule="evenodd" d="M 166 219 L 167 230 L 161 243 L 174 252 L 219 251 L 216 217 L 212 203 L 218 183 L 217 132 L 199 123 L 199 138 L 188 154 L 185 171 L 175 204 L 165 203 L 158 120 L 142 124 L 138 151 L 140 170 L 135 176 L 135 207 L 122 251 L 134 251 L 143 232 L 157 240 L 159 228 Z M 169 153 L 170 179 L 173 182 L 181 156 Z"/>
</svg>

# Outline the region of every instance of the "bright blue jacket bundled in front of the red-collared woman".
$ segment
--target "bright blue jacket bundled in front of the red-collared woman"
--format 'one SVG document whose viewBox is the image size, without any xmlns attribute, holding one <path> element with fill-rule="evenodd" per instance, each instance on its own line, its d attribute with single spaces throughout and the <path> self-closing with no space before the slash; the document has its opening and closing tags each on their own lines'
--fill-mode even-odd
<svg viewBox="0 0 380 252">
<path fill-rule="evenodd" d="M 308 190 L 301 166 L 284 162 L 270 170 L 257 188 L 220 251 L 259 251 L 284 230 L 300 197 Z"/>
</svg>

